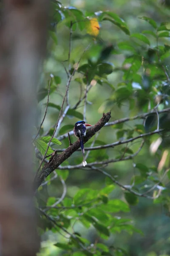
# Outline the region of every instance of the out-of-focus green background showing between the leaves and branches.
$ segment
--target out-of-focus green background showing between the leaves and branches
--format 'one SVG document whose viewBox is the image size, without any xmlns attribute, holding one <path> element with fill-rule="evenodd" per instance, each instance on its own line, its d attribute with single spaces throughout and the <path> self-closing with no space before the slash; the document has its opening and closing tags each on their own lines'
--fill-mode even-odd
<svg viewBox="0 0 170 256">
<path fill-rule="evenodd" d="M 63 0 L 62 4 L 66 7 L 74 6 L 81 10 L 85 15 L 94 16 L 94 12 L 99 11 L 111 11 L 119 15 L 119 17 L 125 20 L 130 33 L 139 33 L 144 30 L 153 30 L 149 23 L 139 19 L 139 17 L 150 17 L 160 24 L 164 21 L 170 21 L 170 9 L 167 5 L 161 5 L 157 0 Z M 49 102 L 61 106 L 63 95 L 65 94 L 65 88 L 67 84 L 67 76 L 63 67 L 63 64 L 68 67 L 68 45 L 69 45 L 69 28 L 65 26 L 65 20 L 60 21 L 57 27 L 53 30 L 57 35 L 57 45 L 49 38 L 48 40 L 48 58 L 44 64 L 44 72 L 42 73 L 41 81 L 43 87 L 47 87 L 49 75 L 52 73 L 54 76 L 59 76 L 61 81 L 57 84 L 57 90 L 50 94 Z M 150 40 L 151 47 L 156 47 L 156 38 L 152 35 L 147 35 Z M 87 59 L 96 61 L 99 57 L 101 50 L 112 44 L 114 47 L 114 54 L 111 54 L 108 58 L 108 62 L 113 65 L 114 72 L 108 75 L 108 82 L 112 84 L 115 89 L 118 84 L 124 82 L 122 79 L 123 71 L 116 70 L 116 68 L 122 67 L 125 58 L 130 55 L 130 52 L 119 52 L 118 45 L 120 42 L 128 41 L 129 35 L 126 35 L 119 27 L 110 23 L 109 21 L 103 21 L 101 24 L 99 36 L 94 40 L 93 37 L 87 35 L 85 31 L 80 32 L 78 29 L 73 32 L 72 35 L 72 47 L 71 47 L 71 65 L 79 61 L 83 51 L 91 43 L 90 48 L 82 56 L 81 65 L 87 63 Z M 133 41 L 132 41 L 133 44 Z M 159 38 L 159 45 L 169 44 L 170 38 Z M 145 55 L 146 49 L 140 48 L 140 54 Z M 165 64 L 168 65 L 170 58 L 166 58 Z M 142 74 L 142 71 L 141 71 Z M 75 75 L 75 78 L 79 75 Z M 74 80 L 71 82 L 69 90 L 69 102 L 71 108 L 76 104 L 80 95 L 79 82 Z M 54 83 L 54 80 L 53 80 Z M 82 89 L 83 90 L 83 89 Z M 108 84 L 96 84 L 88 93 L 88 101 L 92 104 L 87 105 L 87 122 L 94 125 L 102 116 L 103 112 L 111 110 L 111 120 L 120 119 L 127 116 L 135 116 L 140 113 L 147 112 L 148 109 L 142 103 L 142 107 L 139 106 L 138 98 L 136 102 L 132 102 L 130 108 L 130 102 L 121 102 L 118 105 L 116 102 L 110 103 L 108 99 L 114 95 L 113 89 Z M 45 111 L 45 103 L 47 98 L 43 99 L 39 103 L 39 113 L 41 118 Z M 154 101 L 153 101 L 154 102 Z M 167 103 L 167 106 L 169 103 Z M 80 113 L 83 113 L 83 104 L 77 109 Z M 47 117 L 43 124 L 43 131 L 48 131 L 57 121 L 59 111 L 56 108 L 48 108 Z M 41 119 L 40 119 L 41 120 Z M 40 121 L 39 120 L 39 121 Z M 62 122 L 61 128 L 64 125 L 74 125 L 79 119 L 73 116 L 66 116 Z M 38 122 L 37 122 L 38 124 Z M 135 125 L 143 125 L 142 119 L 130 121 L 124 124 L 125 129 L 134 129 Z M 102 128 L 99 132 L 97 140 L 105 143 L 112 143 L 118 140 L 116 127 Z M 60 135 L 60 134 L 59 134 Z M 151 137 L 151 141 L 156 140 L 158 135 Z M 76 138 L 71 137 L 72 142 L 76 141 Z M 90 146 L 92 139 L 86 146 Z M 97 145 L 97 144 L 95 144 Z M 133 143 L 130 148 L 135 152 L 139 148 L 140 143 Z M 62 140 L 62 146 L 58 148 L 66 148 L 68 146 L 68 139 Z M 115 148 L 108 148 L 106 150 L 91 151 L 88 156 L 88 162 L 94 160 L 115 158 L 120 154 L 122 146 Z M 146 144 L 142 148 L 142 151 L 134 160 L 122 161 L 119 163 L 112 163 L 106 167 L 107 171 L 113 176 L 118 177 L 120 183 L 130 184 L 133 175 L 139 175 L 139 171 L 134 168 L 133 163 L 144 163 L 148 168 L 155 166 L 157 168 L 160 161 L 163 148 L 160 149 L 158 155 L 151 155 L 149 145 Z M 106 155 L 104 157 L 104 155 Z M 66 162 L 65 165 L 81 163 L 82 155 L 80 151 L 75 152 Z M 168 168 L 169 162 L 166 168 Z M 104 187 L 104 178 L 102 174 L 93 172 L 92 170 L 71 170 L 69 171 L 68 178 L 66 180 L 67 195 L 73 197 L 78 189 L 90 187 L 92 189 L 101 189 Z M 165 183 L 168 183 L 165 181 Z M 145 184 L 145 183 L 144 183 Z M 167 184 L 168 187 L 168 184 Z M 43 186 L 40 190 L 40 198 L 42 203 L 47 201 L 48 197 L 61 196 L 62 185 L 59 179 L 51 182 L 50 186 Z M 122 190 L 116 186 L 110 195 L 111 198 L 120 198 L 125 201 Z M 136 228 L 142 230 L 143 235 L 139 233 L 121 232 L 115 233 L 108 241 L 104 241 L 106 244 L 114 244 L 115 247 L 124 248 L 130 256 L 165 256 L 170 255 L 170 218 L 168 210 L 164 207 L 164 201 L 159 204 L 155 204 L 154 201 L 147 198 L 139 198 L 139 203 L 135 206 L 130 206 L 130 212 L 121 213 L 119 216 L 130 218 Z M 75 224 L 74 230 L 83 233 L 91 243 L 95 243 L 96 233 L 93 229 L 87 230 L 85 227 Z M 55 247 L 54 241 L 62 239 L 59 234 L 54 234 L 51 231 L 42 235 L 42 251 L 41 256 L 54 256 L 62 255 L 57 247 Z M 122 254 L 121 254 L 122 255 Z"/>
</svg>

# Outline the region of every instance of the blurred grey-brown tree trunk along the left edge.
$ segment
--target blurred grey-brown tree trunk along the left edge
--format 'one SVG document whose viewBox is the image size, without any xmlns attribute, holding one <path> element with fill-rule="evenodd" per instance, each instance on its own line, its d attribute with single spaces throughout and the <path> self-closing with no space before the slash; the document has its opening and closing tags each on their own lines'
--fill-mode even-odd
<svg viewBox="0 0 170 256">
<path fill-rule="evenodd" d="M 0 255 L 39 249 L 31 130 L 49 0 L 4 0 L 0 26 Z"/>
</svg>

